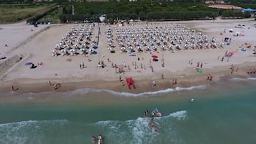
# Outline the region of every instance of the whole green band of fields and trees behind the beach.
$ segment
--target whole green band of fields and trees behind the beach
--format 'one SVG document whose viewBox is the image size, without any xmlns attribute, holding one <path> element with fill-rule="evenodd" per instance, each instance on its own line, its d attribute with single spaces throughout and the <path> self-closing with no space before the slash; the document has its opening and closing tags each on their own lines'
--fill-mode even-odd
<svg viewBox="0 0 256 144">
<path fill-rule="evenodd" d="M 14 2 L 16 1 L 16 2 Z M 0 0 L 0 23 L 21 21 L 99 21 L 99 16 L 105 14 L 105 22 L 114 23 L 118 20 L 140 19 L 148 21 L 242 19 L 250 17 L 249 12 L 208 8 L 201 0 L 137 0 L 137 1 L 108 1 L 108 2 L 67 2 L 57 0 L 51 3 L 27 3 L 19 0 Z M 242 3 L 237 0 L 236 6 L 256 9 L 256 0 Z M 74 8 L 74 11 L 72 9 Z M 74 14 L 73 14 L 74 12 Z"/>
</svg>

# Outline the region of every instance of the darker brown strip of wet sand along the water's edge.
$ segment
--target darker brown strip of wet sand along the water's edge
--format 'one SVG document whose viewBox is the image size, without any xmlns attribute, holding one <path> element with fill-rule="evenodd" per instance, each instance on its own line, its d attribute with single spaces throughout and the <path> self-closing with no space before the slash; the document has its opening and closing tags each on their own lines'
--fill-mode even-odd
<svg viewBox="0 0 256 144">
<path fill-rule="evenodd" d="M 14 86 L 14 90 L 19 93 L 40 93 L 40 92 L 68 92 L 78 89 L 95 89 L 95 90 L 113 90 L 115 92 L 129 92 L 133 94 L 139 94 L 143 92 L 155 92 L 159 90 L 166 90 L 172 88 L 175 90 L 176 87 L 193 87 L 200 85 L 207 85 L 210 82 L 215 82 L 220 79 L 232 79 L 232 78 L 250 78 L 256 77 L 256 75 L 248 75 L 247 70 L 251 67 L 256 67 L 256 64 L 253 65 L 253 62 L 245 62 L 245 64 L 236 65 L 239 67 L 237 72 L 230 74 L 231 70 L 226 66 L 220 66 L 214 71 L 213 69 L 202 69 L 203 73 L 195 72 L 190 75 L 176 75 L 174 73 L 170 73 L 169 75 L 164 76 L 163 79 L 159 77 L 156 80 L 156 87 L 152 87 L 152 79 L 149 76 L 141 77 L 141 79 L 133 79 L 136 85 L 136 89 L 131 88 L 128 89 L 126 82 L 120 82 L 119 80 L 74 80 L 70 81 L 67 79 L 54 79 L 52 82 L 60 83 L 62 86 L 57 90 L 53 90 L 51 85 L 49 85 L 49 79 L 18 79 L 11 80 L 4 83 L 4 85 L 0 86 L 0 90 L 11 92 L 11 85 Z M 221 69 L 221 70 L 220 70 Z M 213 75 L 213 80 L 207 80 L 207 75 Z M 176 85 L 172 84 L 172 80 L 176 78 L 178 80 Z M 123 80 L 124 81 L 124 80 Z"/>
</svg>

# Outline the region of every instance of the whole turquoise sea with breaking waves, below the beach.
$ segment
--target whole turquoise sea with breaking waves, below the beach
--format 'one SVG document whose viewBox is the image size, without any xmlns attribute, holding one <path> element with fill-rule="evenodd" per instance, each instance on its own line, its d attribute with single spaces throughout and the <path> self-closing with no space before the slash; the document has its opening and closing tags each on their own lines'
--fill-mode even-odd
<svg viewBox="0 0 256 144">
<path fill-rule="evenodd" d="M 178 92 L 0 92 L 0 143 L 90 144 L 103 135 L 108 144 L 252 144 L 255 87 L 255 78 L 235 78 Z M 143 117 L 156 107 L 158 132 Z"/>
</svg>

